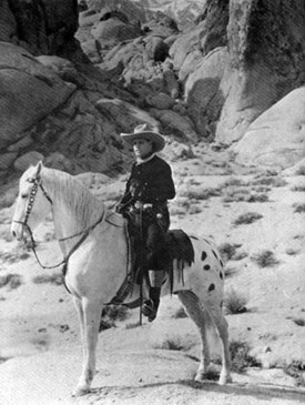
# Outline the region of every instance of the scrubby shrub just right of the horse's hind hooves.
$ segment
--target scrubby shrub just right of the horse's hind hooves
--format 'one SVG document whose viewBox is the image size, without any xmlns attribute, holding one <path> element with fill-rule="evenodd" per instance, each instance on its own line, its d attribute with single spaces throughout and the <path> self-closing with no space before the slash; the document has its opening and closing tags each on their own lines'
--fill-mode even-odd
<svg viewBox="0 0 305 405">
<path fill-rule="evenodd" d="M 233 372 L 243 373 L 247 367 L 261 366 L 260 362 L 250 355 L 251 347 L 246 342 L 232 341 L 228 344 L 228 350 Z"/>
</svg>

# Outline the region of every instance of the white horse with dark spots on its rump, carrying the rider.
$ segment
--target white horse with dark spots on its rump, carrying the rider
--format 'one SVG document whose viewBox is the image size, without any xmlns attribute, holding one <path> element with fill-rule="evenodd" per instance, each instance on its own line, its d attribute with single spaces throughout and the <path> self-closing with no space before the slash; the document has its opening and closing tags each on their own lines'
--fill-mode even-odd
<svg viewBox="0 0 305 405">
<path fill-rule="evenodd" d="M 22 240 L 24 231 L 31 233 L 50 211 L 55 236 L 65 257 L 65 285 L 80 318 L 83 367 L 74 395 L 84 395 L 90 392 L 95 372 L 95 347 L 103 305 L 115 295 L 126 275 L 125 220 L 108 211 L 73 176 L 47 169 L 39 162 L 20 179 L 12 234 Z M 175 277 L 174 293 L 201 336 L 201 362 L 195 379 L 202 381 L 207 373 L 210 351 L 206 328 L 213 325 L 222 342 L 220 384 L 226 384 L 231 382 L 231 375 L 227 323 L 222 311 L 223 265 L 209 241 L 194 237 L 192 244 L 194 263 L 184 269 L 183 283 Z M 169 288 L 164 286 L 163 295 L 166 291 Z"/>
</svg>

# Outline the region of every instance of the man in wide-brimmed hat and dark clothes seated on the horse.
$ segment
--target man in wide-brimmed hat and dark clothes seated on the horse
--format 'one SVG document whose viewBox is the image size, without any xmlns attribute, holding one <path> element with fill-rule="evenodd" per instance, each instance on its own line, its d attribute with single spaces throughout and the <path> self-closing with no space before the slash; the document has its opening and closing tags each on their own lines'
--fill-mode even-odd
<svg viewBox="0 0 305 405">
<path fill-rule="evenodd" d="M 175 196 L 175 186 L 171 166 L 156 155 L 165 146 L 157 128 L 144 123 L 133 133 L 121 133 L 121 136 L 133 145 L 135 162 L 116 212 L 132 219 L 135 241 L 142 245 L 143 263 L 140 264 L 149 273 L 151 284 L 150 298 L 143 303 L 142 312 L 152 322 L 160 303 L 164 266 L 169 262 L 165 249 L 170 227 L 167 200 Z"/>
</svg>

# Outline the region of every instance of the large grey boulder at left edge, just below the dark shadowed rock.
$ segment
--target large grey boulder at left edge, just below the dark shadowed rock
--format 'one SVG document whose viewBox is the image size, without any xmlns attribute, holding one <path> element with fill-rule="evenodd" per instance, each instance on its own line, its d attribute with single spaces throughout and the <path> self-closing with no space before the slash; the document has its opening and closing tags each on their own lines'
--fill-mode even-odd
<svg viewBox="0 0 305 405">
<path fill-rule="evenodd" d="M 0 42 L 0 140 L 13 143 L 75 90 L 24 49 Z"/>
</svg>

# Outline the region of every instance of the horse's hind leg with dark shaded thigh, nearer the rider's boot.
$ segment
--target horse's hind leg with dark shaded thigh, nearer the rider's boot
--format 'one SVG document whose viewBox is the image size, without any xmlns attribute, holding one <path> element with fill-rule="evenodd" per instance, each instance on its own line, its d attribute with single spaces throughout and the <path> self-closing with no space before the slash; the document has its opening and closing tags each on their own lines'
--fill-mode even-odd
<svg viewBox="0 0 305 405">
<path fill-rule="evenodd" d="M 209 322 L 197 296 L 191 291 L 182 291 L 179 294 L 187 315 L 196 324 L 201 336 L 201 361 L 195 376 L 196 381 L 203 381 L 211 362 L 209 343 L 206 340 L 206 322 Z"/>
</svg>

